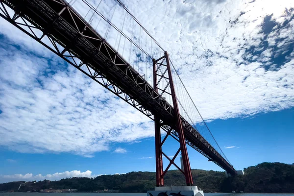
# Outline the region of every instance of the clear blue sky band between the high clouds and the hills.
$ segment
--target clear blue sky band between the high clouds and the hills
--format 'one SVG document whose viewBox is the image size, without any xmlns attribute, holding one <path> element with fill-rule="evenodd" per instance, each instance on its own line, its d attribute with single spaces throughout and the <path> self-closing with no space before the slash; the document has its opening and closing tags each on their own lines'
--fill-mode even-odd
<svg viewBox="0 0 294 196">
<path fill-rule="evenodd" d="M 262 162 L 294 162 L 294 108 L 249 118 L 216 120 L 208 123 L 219 141 L 224 153 L 236 169 L 257 165 Z M 169 141 L 168 147 L 177 145 Z M 109 151 L 95 153 L 87 158 L 71 153 L 30 154 L 19 153 L 1 148 L 1 174 L 11 173 L 55 173 L 64 171 L 92 171 L 92 174 L 115 174 L 131 171 L 155 171 L 154 138 L 141 140 L 140 143 L 114 144 L 126 153 Z M 234 148 L 225 148 L 232 147 Z M 239 148 L 237 148 L 239 147 Z M 172 147 L 171 147 L 172 148 Z M 172 150 L 167 153 L 172 155 Z M 217 165 L 188 147 L 191 168 L 221 171 Z"/>
</svg>

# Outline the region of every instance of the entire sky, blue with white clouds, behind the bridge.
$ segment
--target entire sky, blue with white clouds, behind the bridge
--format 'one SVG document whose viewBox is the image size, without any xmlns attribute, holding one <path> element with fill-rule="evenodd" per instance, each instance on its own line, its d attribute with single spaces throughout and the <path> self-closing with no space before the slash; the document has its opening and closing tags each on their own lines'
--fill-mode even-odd
<svg viewBox="0 0 294 196">
<path fill-rule="evenodd" d="M 107 8 L 103 0 L 99 9 L 109 16 L 116 10 L 119 25 L 124 13 L 114 2 Z M 123 2 L 170 53 L 236 169 L 294 162 L 293 0 Z M 79 4 L 73 6 L 86 15 Z M 0 26 L 0 182 L 155 171 L 154 125 L 147 117 L 2 18 Z M 100 26 L 105 36 L 107 26 Z M 139 32 L 125 26 L 124 32 Z M 115 34 L 107 36 L 123 47 Z M 130 53 L 124 56 L 134 67 L 144 66 Z M 168 155 L 174 146 L 168 140 Z M 188 151 L 192 168 L 221 171 Z"/>
</svg>

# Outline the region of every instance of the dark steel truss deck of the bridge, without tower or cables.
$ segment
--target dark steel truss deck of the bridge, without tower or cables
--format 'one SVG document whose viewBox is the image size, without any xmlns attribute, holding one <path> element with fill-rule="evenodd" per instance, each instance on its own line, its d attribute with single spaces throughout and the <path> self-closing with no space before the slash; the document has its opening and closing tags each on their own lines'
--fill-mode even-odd
<svg viewBox="0 0 294 196">
<path fill-rule="evenodd" d="M 142 77 L 114 48 L 112 48 L 103 37 L 89 25 L 65 0 L 0 0 L 15 11 L 14 17 L 8 14 L 0 14 L 2 18 L 26 31 L 33 39 L 49 48 L 42 42 L 44 36 L 50 38 L 58 47 L 54 53 L 67 60 L 65 51 L 81 63 L 74 67 L 87 74 L 105 88 L 134 106 L 136 109 L 153 120 L 152 114 L 159 115 L 162 128 L 171 131 L 178 137 L 174 130 L 173 108 L 162 99 L 153 87 Z M 3 11 L 2 11 L 3 12 Z M 0 12 L 1 13 L 1 12 Z M 15 22 L 16 18 L 22 17 L 42 31 L 43 35 L 37 37 L 29 33 Z M 83 67 L 94 72 L 86 72 Z M 107 82 L 101 82 L 105 79 Z M 100 80 L 98 80 L 100 79 Z M 104 81 L 104 80 L 103 80 Z M 235 175 L 236 171 L 221 154 L 212 147 L 183 117 L 186 143 L 206 156 L 228 173 Z"/>
</svg>

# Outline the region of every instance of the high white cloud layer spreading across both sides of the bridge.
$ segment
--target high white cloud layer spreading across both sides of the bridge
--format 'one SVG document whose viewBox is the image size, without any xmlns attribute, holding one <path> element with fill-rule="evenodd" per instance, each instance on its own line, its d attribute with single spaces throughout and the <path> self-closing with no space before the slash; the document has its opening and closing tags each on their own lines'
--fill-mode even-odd
<svg viewBox="0 0 294 196">
<path fill-rule="evenodd" d="M 107 3 L 103 1 L 99 9 L 109 15 Z M 155 0 L 124 3 L 171 54 L 204 119 L 252 116 L 294 106 L 294 52 L 279 66 L 270 58 L 285 54 L 293 44 L 294 20 L 285 8 L 290 12 L 294 1 L 185 0 L 171 1 L 168 6 Z M 88 11 L 81 1 L 74 7 L 82 16 Z M 264 20 L 271 14 L 278 25 L 265 33 Z M 122 15 L 116 14 L 112 22 L 120 26 L 122 20 Z M 286 21 L 288 25 L 278 28 Z M 94 19 L 92 25 L 96 23 Z M 65 68 L 62 60 L 6 21 L 0 19 L 0 25 L 5 36 L 0 45 L 1 146 L 20 152 L 71 152 L 92 157 L 109 150 L 113 142 L 153 137 L 153 123 L 144 115 L 82 73 Z M 139 34 L 132 25 L 125 26 L 128 35 L 131 29 Z M 116 37 L 110 33 L 107 41 L 117 46 Z M 269 47 L 260 47 L 263 42 Z M 20 45 L 21 50 L 11 45 Z M 129 60 L 128 52 L 124 56 Z M 129 62 L 139 67 L 134 58 L 132 52 Z M 147 74 L 149 83 L 151 73 Z"/>
</svg>

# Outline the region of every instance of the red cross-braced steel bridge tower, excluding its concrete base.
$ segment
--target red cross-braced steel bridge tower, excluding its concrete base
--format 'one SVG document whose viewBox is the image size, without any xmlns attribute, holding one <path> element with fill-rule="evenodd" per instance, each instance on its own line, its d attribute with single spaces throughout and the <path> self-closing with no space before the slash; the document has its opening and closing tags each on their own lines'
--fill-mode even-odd
<svg viewBox="0 0 294 196">
<path fill-rule="evenodd" d="M 164 67 L 163 71 L 160 72 L 160 68 Z M 187 147 L 185 143 L 185 136 L 184 136 L 184 130 L 182 127 L 181 119 L 180 119 L 180 112 L 176 100 L 176 95 L 175 95 L 175 90 L 174 90 L 174 85 L 173 85 L 173 80 L 172 80 L 172 71 L 170 67 L 170 60 L 169 60 L 169 54 L 167 51 L 164 52 L 164 56 L 160 57 L 159 59 L 155 60 L 153 59 L 153 88 L 158 92 L 158 84 L 162 81 L 166 80 L 166 85 L 163 89 L 161 90 L 161 95 L 163 93 L 168 93 L 172 96 L 172 103 L 173 103 L 173 116 L 174 116 L 174 123 L 172 127 L 178 134 L 179 137 L 179 143 L 180 143 L 180 148 L 177 151 L 177 153 L 174 155 L 172 159 L 169 159 L 170 164 L 168 165 L 167 169 L 163 171 L 163 164 L 162 164 L 162 154 L 164 152 L 162 151 L 162 145 L 166 141 L 166 138 L 161 141 L 161 134 L 160 134 L 160 117 L 156 114 L 154 114 L 154 124 L 155 124 L 155 159 L 156 159 L 156 186 L 157 187 L 162 187 L 164 186 L 164 175 L 170 168 L 170 166 L 173 164 L 178 170 L 180 170 L 184 175 L 186 179 L 186 184 L 187 186 L 192 186 L 193 185 L 193 179 L 192 179 L 192 173 L 191 173 L 191 167 L 190 167 L 190 162 L 189 162 L 189 157 L 188 157 L 188 152 L 187 152 Z M 167 91 L 167 89 L 170 87 L 170 91 Z M 159 93 L 160 94 L 160 93 Z M 167 134 L 169 136 L 169 133 Z M 174 163 L 174 159 L 178 155 L 178 153 L 181 152 L 182 154 L 182 162 L 183 162 L 183 170 L 181 170 L 180 167 L 178 167 Z M 165 155 L 165 154 L 164 154 Z"/>
</svg>

